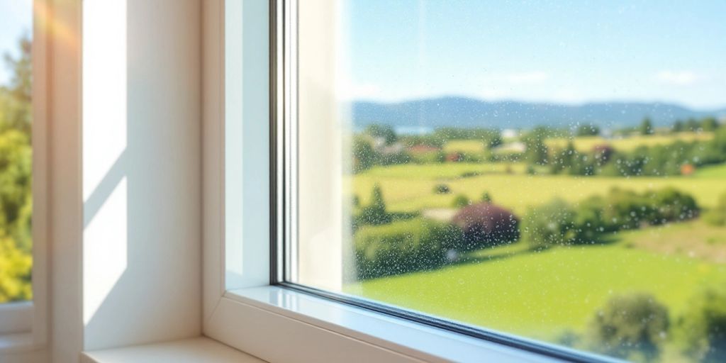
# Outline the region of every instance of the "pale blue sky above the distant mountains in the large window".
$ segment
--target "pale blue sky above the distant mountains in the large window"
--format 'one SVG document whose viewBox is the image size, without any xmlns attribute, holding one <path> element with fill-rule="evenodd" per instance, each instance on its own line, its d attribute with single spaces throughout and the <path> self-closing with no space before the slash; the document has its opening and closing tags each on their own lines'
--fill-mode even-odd
<svg viewBox="0 0 726 363">
<path fill-rule="evenodd" d="M 723 0 L 348 0 L 341 13 L 346 98 L 726 107 Z"/>
</svg>

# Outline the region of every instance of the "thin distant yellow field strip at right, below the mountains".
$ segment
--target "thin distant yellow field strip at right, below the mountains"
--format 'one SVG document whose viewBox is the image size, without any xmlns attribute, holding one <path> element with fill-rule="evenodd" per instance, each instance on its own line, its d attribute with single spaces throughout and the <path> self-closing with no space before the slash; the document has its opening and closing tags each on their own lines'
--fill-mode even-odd
<svg viewBox="0 0 726 363">
<path fill-rule="evenodd" d="M 692 141 L 703 141 L 710 140 L 713 138 L 713 133 L 710 132 L 682 132 L 679 134 L 665 134 L 665 135 L 650 135 L 650 136 L 629 136 L 621 139 L 604 139 L 601 136 L 579 136 L 576 137 L 573 142 L 575 149 L 580 151 L 592 151 L 592 148 L 596 145 L 609 144 L 619 151 L 630 151 L 640 146 L 653 146 L 661 144 L 672 144 L 673 142 L 680 140 L 685 142 Z M 567 145 L 569 139 L 558 138 L 548 139 L 547 145 L 550 147 L 564 148 Z"/>
</svg>

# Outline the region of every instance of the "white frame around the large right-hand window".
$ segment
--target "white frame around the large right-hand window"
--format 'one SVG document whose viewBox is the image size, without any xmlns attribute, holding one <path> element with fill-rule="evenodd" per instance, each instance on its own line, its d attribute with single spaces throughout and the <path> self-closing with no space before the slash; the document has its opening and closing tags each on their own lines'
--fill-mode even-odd
<svg viewBox="0 0 726 363">
<path fill-rule="evenodd" d="M 328 1 L 335 0 L 302 4 L 322 7 Z M 539 346 L 534 353 L 507 343 L 521 342 L 519 337 L 473 338 L 271 285 L 282 273 L 282 258 L 270 258 L 271 249 L 285 238 L 271 242 L 271 235 L 285 221 L 270 217 L 266 208 L 286 186 L 269 178 L 276 165 L 270 150 L 279 160 L 276 144 L 285 142 L 278 134 L 270 138 L 270 125 L 290 110 L 289 102 L 269 100 L 290 97 L 280 86 L 294 82 L 285 73 L 288 60 L 277 57 L 290 51 L 283 49 L 282 36 L 295 28 L 295 4 L 203 2 L 203 333 L 269 362 L 608 360 L 539 342 L 530 343 Z M 276 11 L 282 6 L 285 14 Z M 242 228 L 241 221 L 248 223 Z"/>
</svg>

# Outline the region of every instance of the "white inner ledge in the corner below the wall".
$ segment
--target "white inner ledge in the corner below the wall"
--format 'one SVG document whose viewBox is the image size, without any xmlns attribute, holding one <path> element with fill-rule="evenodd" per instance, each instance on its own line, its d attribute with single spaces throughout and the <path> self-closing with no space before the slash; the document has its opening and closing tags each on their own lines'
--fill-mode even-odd
<svg viewBox="0 0 726 363">
<path fill-rule="evenodd" d="M 126 348 L 87 351 L 81 363 L 260 363 L 254 356 L 210 338 L 199 337 Z"/>
</svg>

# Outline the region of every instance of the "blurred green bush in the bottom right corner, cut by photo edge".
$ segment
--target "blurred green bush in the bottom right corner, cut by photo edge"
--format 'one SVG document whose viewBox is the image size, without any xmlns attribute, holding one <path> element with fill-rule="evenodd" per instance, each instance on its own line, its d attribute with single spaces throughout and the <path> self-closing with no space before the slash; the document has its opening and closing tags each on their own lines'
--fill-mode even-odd
<svg viewBox="0 0 726 363">
<path fill-rule="evenodd" d="M 726 362 L 726 290 L 704 290 L 679 319 L 685 354 L 698 362 Z"/>
</svg>

